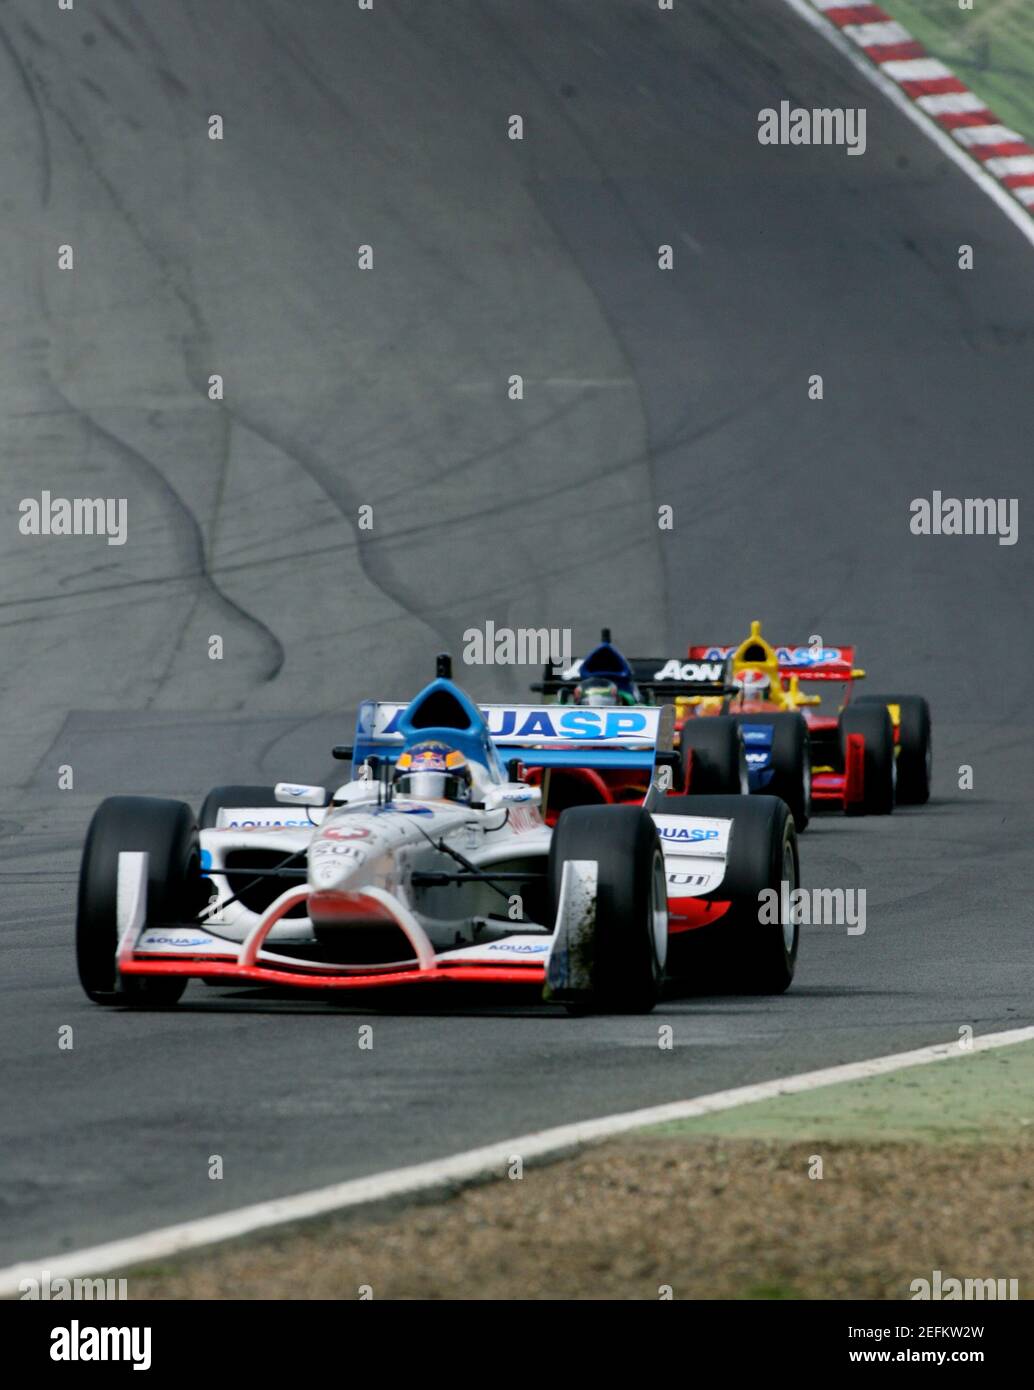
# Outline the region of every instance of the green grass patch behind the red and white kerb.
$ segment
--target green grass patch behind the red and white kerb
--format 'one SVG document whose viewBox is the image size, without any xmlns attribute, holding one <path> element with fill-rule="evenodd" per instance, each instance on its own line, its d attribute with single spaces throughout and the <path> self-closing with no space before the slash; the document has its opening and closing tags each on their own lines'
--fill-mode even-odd
<svg viewBox="0 0 1034 1390">
<path fill-rule="evenodd" d="M 1006 125 L 1034 142 L 1034 3 L 1031 0 L 884 0 L 935 58 L 983 97 Z"/>
</svg>

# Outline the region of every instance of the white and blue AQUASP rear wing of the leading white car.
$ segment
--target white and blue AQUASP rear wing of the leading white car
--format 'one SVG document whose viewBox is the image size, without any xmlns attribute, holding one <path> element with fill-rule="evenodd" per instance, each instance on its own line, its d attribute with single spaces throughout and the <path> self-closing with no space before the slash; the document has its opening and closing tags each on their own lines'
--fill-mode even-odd
<svg viewBox="0 0 1034 1390">
<path fill-rule="evenodd" d="M 377 755 L 393 762 L 403 749 L 399 720 L 409 706 L 364 701 L 353 762 Z M 481 705 L 488 737 L 503 759 L 525 767 L 645 767 L 674 749 L 675 712 L 664 706 Z M 448 731 L 436 730 L 439 735 Z"/>
</svg>

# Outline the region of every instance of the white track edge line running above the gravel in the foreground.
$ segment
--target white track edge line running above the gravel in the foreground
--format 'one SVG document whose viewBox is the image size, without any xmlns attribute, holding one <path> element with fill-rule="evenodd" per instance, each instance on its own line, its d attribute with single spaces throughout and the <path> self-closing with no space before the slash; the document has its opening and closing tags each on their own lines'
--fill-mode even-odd
<svg viewBox="0 0 1034 1390">
<path fill-rule="evenodd" d="M 349 1207 L 363 1207 L 368 1202 L 385 1201 L 393 1197 L 409 1197 L 416 1193 L 432 1191 L 438 1187 L 453 1187 L 477 1179 L 502 1179 L 514 1156 L 524 1162 L 556 1156 L 582 1144 L 613 1138 L 630 1130 L 648 1125 L 666 1125 L 670 1120 L 694 1119 L 714 1111 L 730 1111 L 737 1105 L 750 1105 L 755 1101 L 769 1101 L 777 1095 L 794 1095 L 813 1091 L 838 1081 L 860 1081 L 870 1076 L 885 1076 L 909 1066 L 926 1062 L 944 1062 L 949 1058 L 962 1059 L 976 1052 L 987 1052 L 996 1047 L 1012 1047 L 1016 1042 L 1034 1042 L 1034 1027 L 1010 1029 L 1008 1033 L 987 1033 L 973 1038 L 967 1048 L 958 1041 L 938 1042 L 934 1047 L 917 1048 L 914 1052 L 895 1052 L 891 1056 L 877 1056 L 867 1062 L 846 1062 L 842 1066 L 828 1066 L 821 1072 L 802 1072 L 774 1081 L 759 1081 L 755 1086 L 738 1086 L 731 1091 L 716 1091 L 712 1095 L 698 1095 L 689 1101 L 671 1101 L 667 1105 L 650 1105 L 641 1111 L 627 1111 L 624 1115 L 606 1115 L 596 1120 L 581 1120 L 574 1125 L 560 1125 L 556 1129 L 521 1134 L 517 1138 L 485 1148 L 473 1148 L 466 1154 L 435 1159 L 429 1163 L 416 1163 L 411 1168 L 396 1168 L 371 1177 L 356 1177 L 331 1187 L 318 1187 L 295 1197 L 281 1197 L 270 1202 L 256 1202 L 238 1211 L 222 1212 L 218 1216 L 203 1216 L 199 1220 L 183 1222 L 179 1226 L 164 1226 L 161 1230 L 145 1232 L 126 1240 L 115 1240 L 107 1245 L 90 1250 L 65 1251 L 49 1255 L 46 1259 L 31 1259 L 19 1265 L 0 1269 L 0 1298 L 11 1298 L 19 1293 L 22 1279 L 39 1280 L 43 1270 L 51 1277 L 75 1279 L 86 1275 L 103 1275 L 110 1270 L 126 1270 L 154 1259 L 165 1259 L 202 1245 L 233 1240 L 253 1232 L 282 1226 L 288 1222 L 307 1220 L 324 1216 Z"/>
</svg>

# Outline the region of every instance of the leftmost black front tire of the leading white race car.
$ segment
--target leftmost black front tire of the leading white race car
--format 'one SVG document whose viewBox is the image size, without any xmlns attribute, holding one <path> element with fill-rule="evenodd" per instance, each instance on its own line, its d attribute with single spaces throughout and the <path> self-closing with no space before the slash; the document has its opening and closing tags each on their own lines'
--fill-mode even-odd
<svg viewBox="0 0 1034 1390">
<path fill-rule="evenodd" d="M 193 812 L 157 796 L 108 796 L 93 813 L 79 866 L 75 956 L 95 1004 L 175 1004 L 185 979 L 120 976 L 118 855 L 146 851 L 149 924 L 189 922 L 204 903 Z"/>
</svg>

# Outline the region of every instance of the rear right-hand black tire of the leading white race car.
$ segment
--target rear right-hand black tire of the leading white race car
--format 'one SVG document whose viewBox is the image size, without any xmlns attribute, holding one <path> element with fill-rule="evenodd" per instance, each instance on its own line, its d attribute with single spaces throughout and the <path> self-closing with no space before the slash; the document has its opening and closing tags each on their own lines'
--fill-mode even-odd
<svg viewBox="0 0 1034 1390">
<path fill-rule="evenodd" d="M 728 902 L 712 926 L 675 937 L 668 974 L 694 992 L 784 994 L 796 970 L 801 883 L 794 816 L 780 796 L 671 796 L 664 815 L 731 820 L 725 873 L 709 898 Z"/>
</svg>

